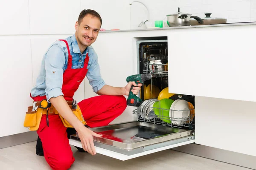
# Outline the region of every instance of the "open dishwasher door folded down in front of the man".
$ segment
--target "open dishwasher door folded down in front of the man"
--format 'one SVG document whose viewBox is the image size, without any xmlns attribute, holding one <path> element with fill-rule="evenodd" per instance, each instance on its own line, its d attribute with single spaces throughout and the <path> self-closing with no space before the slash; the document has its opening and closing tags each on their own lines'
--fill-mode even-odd
<svg viewBox="0 0 256 170">
<path fill-rule="evenodd" d="M 90 128 L 96 153 L 122 161 L 195 142 L 194 131 L 148 122 L 126 122 Z M 71 135 L 70 145 L 81 147 L 79 136 Z"/>
</svg>

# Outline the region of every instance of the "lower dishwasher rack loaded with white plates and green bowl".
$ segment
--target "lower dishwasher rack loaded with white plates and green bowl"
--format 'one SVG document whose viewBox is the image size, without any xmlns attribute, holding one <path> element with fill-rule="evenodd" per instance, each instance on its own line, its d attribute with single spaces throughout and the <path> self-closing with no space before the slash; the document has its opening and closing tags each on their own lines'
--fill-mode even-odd
<svg viewBox="0 0 256 170">
<path fill-rule="evenodd" d="M 167 103 L 167 104 L 166 104 Z M 137 115 L 137 121 L 150 122 L 155 125 L 171 127 L 189 127 L 195 129 L 195 108 L 186 100 L 157 100 L 148 99 L 137 107 L 133 114 Z"/>
</svg>

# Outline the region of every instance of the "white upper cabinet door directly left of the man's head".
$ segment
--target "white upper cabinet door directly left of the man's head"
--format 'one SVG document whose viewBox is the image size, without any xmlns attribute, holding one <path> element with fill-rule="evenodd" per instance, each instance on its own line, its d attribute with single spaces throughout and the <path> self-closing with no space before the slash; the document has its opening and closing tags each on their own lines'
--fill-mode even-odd
<svg viewBox="0 0 256 170">
<path fill-rule="evenodd" d="M 29 0 L 31 34 L 74 34 L 80 0 Z"/>
</svg>

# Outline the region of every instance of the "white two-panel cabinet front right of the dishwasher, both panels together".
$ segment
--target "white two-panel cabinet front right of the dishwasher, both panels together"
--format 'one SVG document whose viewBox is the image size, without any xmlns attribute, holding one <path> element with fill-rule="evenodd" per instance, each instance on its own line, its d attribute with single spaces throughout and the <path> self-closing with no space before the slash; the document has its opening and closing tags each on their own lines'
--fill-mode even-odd
<svg viewBox="0 0 256 170">
<path fill-rule="evenodd" d="M 169 92 L 195 95 L 195 143 L 256 156 L 256 25 L 168 33 Z"/>
</svg>

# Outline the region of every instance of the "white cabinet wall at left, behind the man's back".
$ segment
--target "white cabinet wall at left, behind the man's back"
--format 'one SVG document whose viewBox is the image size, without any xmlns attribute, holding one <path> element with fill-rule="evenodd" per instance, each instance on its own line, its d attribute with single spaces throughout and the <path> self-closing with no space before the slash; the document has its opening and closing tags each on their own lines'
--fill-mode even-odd
<svg viewBox="0 0 256 170">
<path fill-rule="evenodd" d="M 23 127 L 41 59 L 55 40 L 74 34 L 80 0 L 0 0 L 0 137 L 29 131 Z M 51 5 L 49 5 L 51 4 Z M 75 97 L 84 99 L 84 82 Z"/>
</svg>

